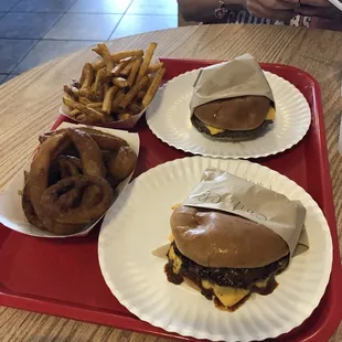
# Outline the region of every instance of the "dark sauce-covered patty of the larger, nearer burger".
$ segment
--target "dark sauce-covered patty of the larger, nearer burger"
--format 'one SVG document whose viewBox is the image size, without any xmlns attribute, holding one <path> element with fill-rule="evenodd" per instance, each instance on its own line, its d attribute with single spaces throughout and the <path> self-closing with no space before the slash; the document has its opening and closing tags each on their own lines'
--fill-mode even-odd
<svg viewBox="0 0 342 342">
<path fill-rule="evenodd" d="M 180 276 L 184 276 L 194 281 L 194 279 L 206 279 L 213 284 L 224 287 L 234 287 L 242 289 L 250 289 L 255 287 L 257 281 L 266 280 L 270 276 L 275 276 L 287 268 L 289 264 L 289 255 L 284 258 L 266 265 L 264 267 L 256 268 L 215 268 L 204 267 L 195 261 L 189 259 L 180 253 L 174 242 L 171 244 L 174 254 L 182 260 L 180 268 Z M 169 258 L 169 263 L 172 260 Z M 270 279 L 271 281 L 271 279 Z M 172 281 L 173 282 L 173 281 Z M 195 281 L 196 284 L 197 281 Z M 180 284 L 180 282 L 179 282 Z M 199 285 L 199 284 L 196 284 Z M 274 289 L 271 289 L 272 291 Z M 255 291 L 257 291 L 255 289 Z"/>
</svg>

